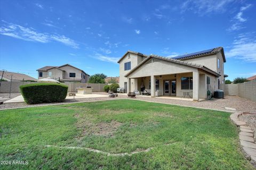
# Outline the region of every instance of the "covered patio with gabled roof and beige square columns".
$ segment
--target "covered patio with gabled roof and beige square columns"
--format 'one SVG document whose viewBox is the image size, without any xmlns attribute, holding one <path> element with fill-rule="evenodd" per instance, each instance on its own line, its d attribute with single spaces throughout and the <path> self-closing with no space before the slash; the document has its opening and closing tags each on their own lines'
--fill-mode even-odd
<svg viewBox="0 0 256 170">
<path fill-rule="evenodd" d="M 127 92 L 146 90 L 151 97 L 173 96 L 198 101 L 207 98 L 207 90 L 218 88 L 217 76 L 213 73 L 187 62 L 151 58 L 126 75 Z"/>
</svg>

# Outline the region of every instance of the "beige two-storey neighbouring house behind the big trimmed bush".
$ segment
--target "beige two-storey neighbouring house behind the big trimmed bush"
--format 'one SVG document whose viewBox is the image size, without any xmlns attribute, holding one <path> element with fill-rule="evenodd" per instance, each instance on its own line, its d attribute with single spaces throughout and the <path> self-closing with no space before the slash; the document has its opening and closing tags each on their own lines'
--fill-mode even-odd
<svg viewBox="0 0 256 170">
<path fill-rule="evenodd" d="M 65 64 L 63 66 L 45 66 L 37 69 L 38 79 L 51 77 L 62 82 L 70 82 L 75 80 L 76 82 L 87 83 L 90 75 L 86 74 L 83 70 Z"/>
</svg>

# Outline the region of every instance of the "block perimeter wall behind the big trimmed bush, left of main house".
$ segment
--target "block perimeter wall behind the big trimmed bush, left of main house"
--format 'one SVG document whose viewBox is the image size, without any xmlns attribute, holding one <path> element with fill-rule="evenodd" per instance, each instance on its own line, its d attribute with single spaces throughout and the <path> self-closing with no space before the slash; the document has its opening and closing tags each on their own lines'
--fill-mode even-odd
<svg viewBox="0 0 256 170">
<path fill-rule="evenodd" d="M 38 82 L 12 82 L 11 86 L 11 93 L 20 93 L 20 86 L 26 84 L 32 84 Z M 75 92 L 77 92 L 76 87 L 82 86 L 91 86 L 93 88 L 93 92 L 103 92 L 103 87 L 107 84 L 97 84 L 97 83 L 73 83 L 73 82 L 66 82 L 61 83 L 68 86 L 68 92 L 73 92 L 73 87 L 75 87 Z M 11 82 L 2 82 L 0 86 L 0 93 L 9 93 L 10 92 L 10 85 Z"/>
</svg>

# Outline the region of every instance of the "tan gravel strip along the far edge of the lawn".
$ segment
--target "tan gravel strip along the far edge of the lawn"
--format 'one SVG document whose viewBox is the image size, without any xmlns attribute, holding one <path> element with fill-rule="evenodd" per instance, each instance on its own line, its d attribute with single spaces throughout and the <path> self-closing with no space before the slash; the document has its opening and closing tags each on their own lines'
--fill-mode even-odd
<svg viewBox="0 0 256 170">
<path fill-rule="evenodd" d="M 105 92 L 94 92 L 94 94 L 105 94 Z M 88 102 L 88 101 L 100 101 L 100 100 L 116 100 L 116 99 L 127 99 L 127 95 L 118 95 L 117 98 L 86 98 L 86 99 L 67 99 L 61 103 L 74 103 L 74 102 Z M 161 99 L 161 98 L 150 98 L 145 96 L 137 96 L 137 98 L 132 100 L 143 100 L 151 102 L 161 102 L 167 104 L 179 104 L 181 106 L 191 106 L 191 107 L 201 107 L 207 109 L 218 109 L 223 111 L 226 110 L 225 107 L 235 108 L 238 112 L 255 112 L 256 113 L 256 103 L 250 100 L 239 98 L 238 96 L 225 96 L 225 99 L 213 99 L 204 100 L 201 102 L 196 101 L 186 101 L 186 100 L 174 100 L 174 99 Z M 7 108 L 19 108 L 19 107 L 33 107 L 33 106 L 49 106 L 53 104 L 61 103 L 43 103 L 43 104 L 33 104 L 29 105 L 26 103 L 5 103 L 0 105 L 0 109 Z M 233 111 L 234 112 L 234 111 Z"/>
</svg>

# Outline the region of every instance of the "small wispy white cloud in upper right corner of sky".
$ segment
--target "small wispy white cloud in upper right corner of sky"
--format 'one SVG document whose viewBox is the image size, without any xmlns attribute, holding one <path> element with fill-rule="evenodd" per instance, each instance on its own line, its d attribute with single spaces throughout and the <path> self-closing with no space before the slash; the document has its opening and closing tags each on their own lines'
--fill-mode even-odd
<svg viewBox="0 0 256 170">
<path fill-rule="evenodd" d="M 234 30 L 245 28 L 244 26 L 242 26 L 242 23 L 247 21 L 247 19 L 243 18 L 243 11 L 247 10 L 250 6 L 252 6 L 252 4 L 247 4 L 240 8 L 240 11 L 234 17 L 234 20 L 231 20 L 234 23 L 230 28 L 227 29 L 228 31 L 234 31 Z"/>
</svg>

